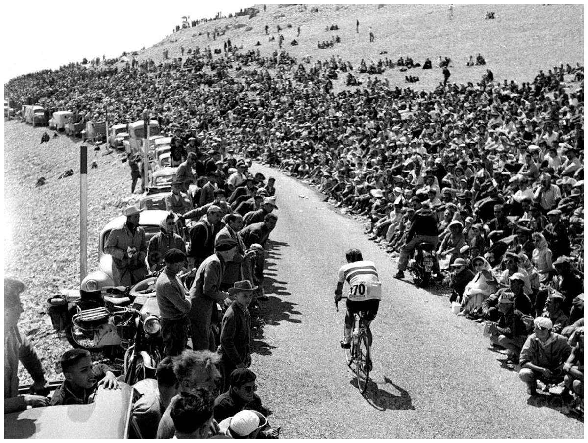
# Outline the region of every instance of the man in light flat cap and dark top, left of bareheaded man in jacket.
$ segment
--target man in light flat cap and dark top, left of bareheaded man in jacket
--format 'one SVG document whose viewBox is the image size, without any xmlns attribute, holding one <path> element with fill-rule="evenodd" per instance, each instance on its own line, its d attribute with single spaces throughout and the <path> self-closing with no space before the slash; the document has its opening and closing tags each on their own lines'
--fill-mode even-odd
<svg viewBox="0 0 588 443">
<path fill-rule="evenodd" d="M 220 219 L 223 211 L 219 206 L 211 205 L 206 210 L 206 216 L 190 228 L 188 235 L 188 266 L 197 268 L 202 261 L 214 252 L 215 237 L 220 231 Z"/>
</svg>

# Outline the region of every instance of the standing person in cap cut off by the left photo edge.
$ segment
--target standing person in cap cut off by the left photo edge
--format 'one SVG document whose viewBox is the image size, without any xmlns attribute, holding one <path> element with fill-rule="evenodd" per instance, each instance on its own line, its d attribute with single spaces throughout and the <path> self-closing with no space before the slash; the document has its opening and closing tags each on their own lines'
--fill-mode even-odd
<svg viewBox="0 0 588 443">
<path fill-rule="evenodd" d="M 49 405 L 49 399 L 36 393 L 48 393 L 43 365 L 35 348 L 18 328 L 23 312 L 20 294 L 25 285 L 14 278 L 4 278 L 4 414 L 23 411 L 28 406 Z M 33 379 L 31 394 L 18 395 L 18 361 Z"/>
</svg>

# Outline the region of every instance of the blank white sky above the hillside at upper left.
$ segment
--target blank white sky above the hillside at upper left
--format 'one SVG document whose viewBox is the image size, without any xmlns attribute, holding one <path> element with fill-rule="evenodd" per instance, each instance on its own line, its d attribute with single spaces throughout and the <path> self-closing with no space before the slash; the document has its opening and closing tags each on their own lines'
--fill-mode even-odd
<svg viewBox="0 0 588 443">
<path fill-rule="evenodd" d="M 182 16 L 212 18 L 255 1 L 96 2 L 16 0 L 2 6 L 2 83 L 28 72 L 55 69 L 84 57 L 114 58 L 161 41 Z"/>
</svg>

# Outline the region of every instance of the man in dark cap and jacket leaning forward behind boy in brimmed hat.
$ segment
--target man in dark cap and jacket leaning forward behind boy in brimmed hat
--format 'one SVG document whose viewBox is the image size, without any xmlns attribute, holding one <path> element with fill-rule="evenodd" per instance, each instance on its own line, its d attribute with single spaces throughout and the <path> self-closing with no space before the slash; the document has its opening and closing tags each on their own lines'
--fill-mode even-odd
<svg viewBox="0 0 588 443">
<path fill-rule="evenodd" d="M 206 258 L 196 271 L 196 277 L 190 288 L 192 307 L 188 314 L 192 331 L 192 349 L 194 351 L 216 351 L 215 337 L 211 322 L 216 321 L 216 303 L 229 294 L 220 290 L 226 262 L 235 257 L 237 241 L 223 238 L 215 242 L 215 253 Z"/>
</svg>

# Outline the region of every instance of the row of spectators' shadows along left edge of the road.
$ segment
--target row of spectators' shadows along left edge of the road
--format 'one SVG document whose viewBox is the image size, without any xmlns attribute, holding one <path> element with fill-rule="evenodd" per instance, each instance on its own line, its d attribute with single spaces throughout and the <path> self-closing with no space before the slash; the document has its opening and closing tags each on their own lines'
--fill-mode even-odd
<svg viewBox="0 0 588 443">
<path fill-rule="evenodd" d="M 275 271 L 276 261 L 279 260 L 280 249 L 290 247 L 286 242 L 269 240 L 266 244 L 266 262 L 265 271 Z M 252 312 L 252 352 L 259 355 L 271 355 L 274 346 L 263 341 L 263 327 L 265 325 L 277 326 L 280 322 L 287 321 L 290 323 L 301 323 L 300 319 L 292 317 L 301 315 L 300 311 L 295 309 L 296 303 L 283 301 L 280 297 L 287 297 L 292 293 L 286 291 L 288 282 L 279 281 L 274 278 L 276 273 L 264 272 L 263 289 L 267 300 L 259 301 L 259 309 Z"/>
</svg>

